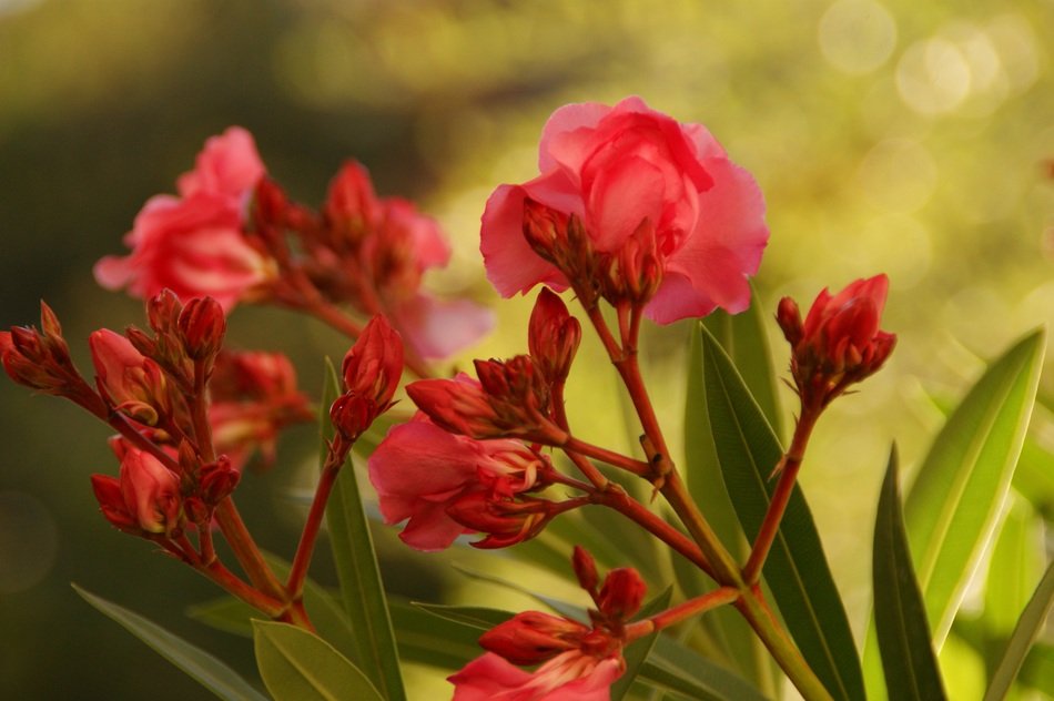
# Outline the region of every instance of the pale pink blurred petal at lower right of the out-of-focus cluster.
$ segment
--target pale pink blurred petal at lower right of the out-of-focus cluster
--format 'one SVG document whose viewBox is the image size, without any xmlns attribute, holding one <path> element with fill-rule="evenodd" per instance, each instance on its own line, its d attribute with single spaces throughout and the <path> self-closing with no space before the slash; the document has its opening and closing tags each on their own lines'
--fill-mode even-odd
<svg viewBox="0 0 1054 701">
<path fill-rule="evenodd" d="M 479 341 L 494 328 L 494 313 L 468 299 L 436 299 L 418 294 L 393 316 L 406 343 L 424 358 L 446 358 Z"/>
</svg>

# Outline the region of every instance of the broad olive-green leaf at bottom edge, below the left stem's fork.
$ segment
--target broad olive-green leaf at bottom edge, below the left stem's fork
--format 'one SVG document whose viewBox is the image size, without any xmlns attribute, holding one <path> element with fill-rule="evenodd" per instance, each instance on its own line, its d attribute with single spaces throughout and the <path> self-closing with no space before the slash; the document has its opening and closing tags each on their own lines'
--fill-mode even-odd
<svg viewBox="0 0 1054 701">
<path fill-rule="evenodd" d="M 256 666 L 275 701 L 382 701 L 357 667 L 328 642 L 288 623 L 253 621 Z"/>
</svg>

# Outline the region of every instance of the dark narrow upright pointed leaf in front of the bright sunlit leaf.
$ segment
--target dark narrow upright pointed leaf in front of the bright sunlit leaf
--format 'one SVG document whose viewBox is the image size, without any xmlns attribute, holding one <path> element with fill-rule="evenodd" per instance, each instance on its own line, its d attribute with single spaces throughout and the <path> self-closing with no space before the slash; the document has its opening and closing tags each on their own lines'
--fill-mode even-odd
<svg viewBox="0 0 1054 701">
<path fill-rule="evenodd" d="M 896 479 L 894 447 L 879 497 L 871 561 L 875 631 L 885 688 L 891 699 L 945 699 L 941 671 L 930 642 L 925 603 L 911 565 Z"/>
</svg>

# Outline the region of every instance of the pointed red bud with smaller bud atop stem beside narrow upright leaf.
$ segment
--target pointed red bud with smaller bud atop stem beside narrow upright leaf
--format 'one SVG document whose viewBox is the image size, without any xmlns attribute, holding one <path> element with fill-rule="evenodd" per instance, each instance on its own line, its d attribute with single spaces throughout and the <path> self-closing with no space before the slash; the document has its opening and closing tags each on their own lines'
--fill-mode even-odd
<svg viewBox="0 0 1054 701">
<path fill-rule="evenodd" d="M 403 342 L 383 316 L 369 319 L 344 356 L 342 370 L 345 392 L 330 407 L 330 420 L 354 443 L 392 406 L 403 375 Z"/>
</svg>

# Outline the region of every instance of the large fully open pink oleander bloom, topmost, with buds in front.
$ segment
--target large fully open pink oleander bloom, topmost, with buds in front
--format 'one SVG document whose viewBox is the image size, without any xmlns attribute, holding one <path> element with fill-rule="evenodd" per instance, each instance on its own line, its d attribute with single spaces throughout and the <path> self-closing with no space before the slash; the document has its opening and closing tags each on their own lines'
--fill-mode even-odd
<svg viewBox="0 0 1054 701">
<path fill-rule="evenodd" d="M 568 280 L 591 270 L 584 261 L 591 252 L 596 274 L 625 277 L 615 287 L 634 302 L 650 297 L 645 312 L 660 324 L 749 306 L 747 277 L 769 237 L 764 204 L 750 173 L 702 125 L 680 124 L 639 98 L 569 104 L 545 125 L 538 169 L 531 181 L 499 186 L 483 215 L 487 277 L 504 296 L 538 283 L 611 287 Z"/>
</svg>

